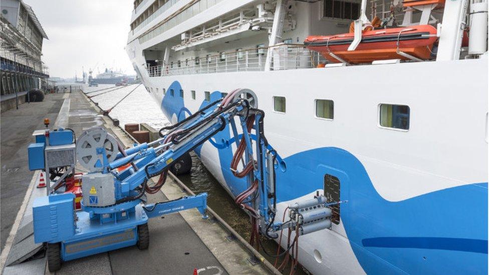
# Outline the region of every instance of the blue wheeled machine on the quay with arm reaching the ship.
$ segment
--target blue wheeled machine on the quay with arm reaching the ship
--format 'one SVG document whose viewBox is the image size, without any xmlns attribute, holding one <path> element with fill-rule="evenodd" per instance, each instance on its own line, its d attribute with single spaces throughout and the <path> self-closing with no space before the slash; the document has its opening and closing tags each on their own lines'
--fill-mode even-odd
<svg viewBox="0 0 489 275">
<path fill-rule="evenodd" d="M 236 202 L 259 224 L 260 234 L 275 238 L 275 231 L 283 228 L 295 228 L 302 235 L 330 227 L 331 209 L 324 196 L 319 194 L 301 205 L 290 206 L 291 220 L 275 222 L 274 169 L 278 155 L 264 136 L 264 113 L 256 108 L 256 104 L 256 95 L 252 91 L 235 90 L 183 121 L 163 128 L 168 132 L 162 134 L 160 130 L 161 139 L 135 144 L 129 149 L 123 149 L 100 127 L 85 131 L 75 143 L 71 131 L 50 131 L 49 122 L 46 123 L 44 131 L 35 132 L 38 133 L 36 143 L 29 146 L 29 165 L 33 170 L 58 173 L 55 184 L 48 183 L 48 196 L 37 198 L 33 204 L 34 237 L 37 243 L 47 243 L 49 269 L 59 269 L 62 261 L 125 246 L 137 245 L 139 249 L 146 249 L 149 245 L 147 221 L 152 217 L 197 208 L 205 218 L 206 193 L 154 204 L 145 204 L 145 195 L 160 190 L 168 169 L 180 157 L 227 125 L 231 126 L 234 141 L 222 141 L 223 145 L 230 146 L 230 143 L 241 140 L 236 160 L 242 159 L 246 152 L 244 157 L 248 163 L 242 172 L 235 171 L 236 168 L 233 171 L 236 176 L 246 177 L 249 186 L 236 197 Z M 239 118 L 240 135 L 235 118 Z M 254 137 L 252 129 L 255 130 Z M 255 151 L 253 139 L 256 140 Z M 90 171 L 81 175 L 83 198 L 80 211 L 75 209 L 73 193 L 60 192 L 66 179 L 75 175 L 71 158 L 75 144 L 77 162 Z M 53 167 L 57 170 L 52 170 Z M 158 175 L 158 181 L 150 184 L 150 179 Z M 245 199 L 248 201 L 243 202 Z"/>
</svg>

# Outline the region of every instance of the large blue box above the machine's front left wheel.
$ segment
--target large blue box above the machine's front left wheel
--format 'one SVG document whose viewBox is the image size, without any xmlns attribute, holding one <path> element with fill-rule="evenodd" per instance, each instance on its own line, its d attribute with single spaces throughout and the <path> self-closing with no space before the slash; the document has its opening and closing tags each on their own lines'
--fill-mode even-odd
<svg viewBox="0 0 489 275">
<path fill-rule="evenodd" d="M 34 200 L 34 242 L 59 242 L 75 235 L 75 195 L 63 193 Z"/>
</svg>

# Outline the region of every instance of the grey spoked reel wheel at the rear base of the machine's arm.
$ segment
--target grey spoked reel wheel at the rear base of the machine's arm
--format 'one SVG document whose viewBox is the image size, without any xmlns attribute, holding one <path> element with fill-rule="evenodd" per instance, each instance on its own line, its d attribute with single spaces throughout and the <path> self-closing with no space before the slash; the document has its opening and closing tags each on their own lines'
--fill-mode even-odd
<svg viewBox="0 0 489 275">
<path fill-rule="evenodd" d="M 76 141 L 77 161 L 90 172 L 104 170 L 103 154 L 97 148 L 104 148 L 108 162 L 115 160 L 119 148 L 117 140 L 102 127 L 90 128 Z"/>
</svg>

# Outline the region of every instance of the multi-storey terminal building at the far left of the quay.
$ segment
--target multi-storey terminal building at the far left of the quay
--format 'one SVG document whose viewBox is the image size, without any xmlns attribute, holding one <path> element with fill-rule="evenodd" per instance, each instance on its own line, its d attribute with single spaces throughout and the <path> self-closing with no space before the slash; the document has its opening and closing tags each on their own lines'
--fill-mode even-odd
<svg viewBox="0 0 489 275">
<path fill-rule="evenodd" d="M 31 89 L 45 88 L 49 75 L 41 56 L 43 40 L 48 36 L 32 8 L 22 0 L 2 0 L 0 3 L 0 93 L 4 111 L 8 109 L 6 106 L 24 102 L 24 95 Z"/>
</svg>

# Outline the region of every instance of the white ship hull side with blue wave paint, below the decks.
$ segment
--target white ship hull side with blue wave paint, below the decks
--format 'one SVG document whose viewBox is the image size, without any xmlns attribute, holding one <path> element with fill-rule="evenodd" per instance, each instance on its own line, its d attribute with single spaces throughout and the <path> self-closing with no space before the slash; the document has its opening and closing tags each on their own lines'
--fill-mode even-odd
<svg viewBox="0 0 489 275">
<path fill-rule="evenodd" d="M 348 201 L 340 223 L 300 237 L 299 262 L 312 273 L 487 273 L 485 57 L 149 77 L 136 56 L 143 84 L 173 123 L 208 103 L 204 91 L 210 102 L 236 88 L 258 95 L 266 136 L 285 163 L 278 217 L 322 192 L 326 174 L 339 179 Z M 274 111 L 273 96 L 286 98 L 285 113 Z M 334 119 L 315 116 L 316 99 L 334 101 Z M 409 106 L 409 130 L 380 126 L 382 103 Z M 218 149 L 228 137 L 219 133 L 196 152 L 235 195 L 244 187 L 229 171 L 231 149 Z"/>
</svg>

